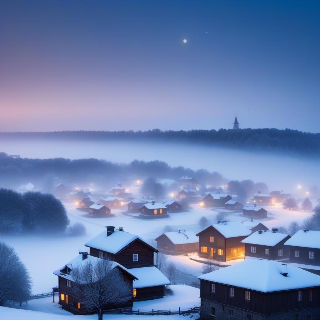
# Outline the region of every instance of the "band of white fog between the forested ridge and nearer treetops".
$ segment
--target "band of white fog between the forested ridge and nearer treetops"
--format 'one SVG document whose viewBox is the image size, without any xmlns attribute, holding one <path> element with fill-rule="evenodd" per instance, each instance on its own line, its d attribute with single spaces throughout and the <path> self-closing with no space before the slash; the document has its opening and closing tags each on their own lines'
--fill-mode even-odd
<svg viewBox="0 0 320 320">
<path fill-rule="evenodd" d="M 218 171 L 228 179 L 262 181 L 270 190 L 290 192 L 294 192 L 298 184 L 305 187 L 317 185 L 320 178 L 319 161 L 316 160 L 196 144 L 10 139 L 0 140 L 0 151 L 42 159 L 98 158 L 118 163 L 129 163 L 134 159 L 162 160 L 171 166 Z"/>
</svg>

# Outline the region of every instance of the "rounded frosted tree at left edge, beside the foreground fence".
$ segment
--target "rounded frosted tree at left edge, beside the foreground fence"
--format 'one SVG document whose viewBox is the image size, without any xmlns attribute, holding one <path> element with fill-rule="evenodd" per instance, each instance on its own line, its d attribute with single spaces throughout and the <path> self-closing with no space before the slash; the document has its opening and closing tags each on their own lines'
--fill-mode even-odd
<svg viewBox="0 0 320 320">
<path fill-rule="evenodd" d="M 31 278 L 14 249 L 0 242 L 0 306 L 8 300 L 22 302 L 31 295 Z"/>
</svg>

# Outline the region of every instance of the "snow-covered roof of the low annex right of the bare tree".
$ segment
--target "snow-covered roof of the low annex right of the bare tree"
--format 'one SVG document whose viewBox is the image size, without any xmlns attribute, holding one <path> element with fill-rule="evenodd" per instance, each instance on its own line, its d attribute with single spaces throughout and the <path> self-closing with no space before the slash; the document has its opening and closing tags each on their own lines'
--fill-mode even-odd
<svg viewBox="0 0 320 320">
<path fill-rule="evenodd" d="M 170 284 L 169 279 L 156 267 L 134 268 L 130 271 L 138 278 L 133 281 L 133 289 Z"/>
</svg>

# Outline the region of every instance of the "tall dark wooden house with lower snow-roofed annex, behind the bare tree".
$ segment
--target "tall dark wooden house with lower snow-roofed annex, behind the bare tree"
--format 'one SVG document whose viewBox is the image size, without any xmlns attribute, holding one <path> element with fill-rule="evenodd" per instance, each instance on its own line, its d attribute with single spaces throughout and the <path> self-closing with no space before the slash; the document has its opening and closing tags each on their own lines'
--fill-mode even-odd
<svg viewBox="0 0 320 320">
<path fill-rule="evenodd" d="M 162 298 L 164 285 L 170 281 L 155 266 L 154 254 L 159 251 L 139 236 L 107 227 L 107 230 L 88 241 L 90 255 L 106 258 L 130 269 L 140 282 L 133 284 L 133 300 Z"/>
</svg>

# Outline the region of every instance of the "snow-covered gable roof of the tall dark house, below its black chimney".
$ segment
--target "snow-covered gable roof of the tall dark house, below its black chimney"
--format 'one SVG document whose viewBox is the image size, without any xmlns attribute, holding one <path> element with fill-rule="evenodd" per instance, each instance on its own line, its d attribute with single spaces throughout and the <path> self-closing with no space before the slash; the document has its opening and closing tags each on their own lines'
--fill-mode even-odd
<svg viewBox="0 0 320 320">
<path fill-rule="evenodd" d="M 105 231 L 101 232 L 98 236 L 89 240 L 84 245 L 87 247 L 116 254 L 136 239 L 140 239 L 141 241 L 145 242 L 142 238 L 140 238 L 137 235 L 133 235 L 132 233 L 119 230 L 115 230 L 110 236 L 107 236 L 106 229 Z M 149 246 L 153 248 L 156 252 L 158 252 L 156 248 L 152 247 L 151 245 Z"/>
</svg>

